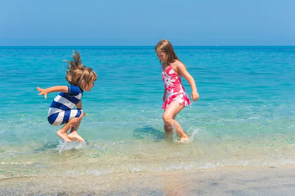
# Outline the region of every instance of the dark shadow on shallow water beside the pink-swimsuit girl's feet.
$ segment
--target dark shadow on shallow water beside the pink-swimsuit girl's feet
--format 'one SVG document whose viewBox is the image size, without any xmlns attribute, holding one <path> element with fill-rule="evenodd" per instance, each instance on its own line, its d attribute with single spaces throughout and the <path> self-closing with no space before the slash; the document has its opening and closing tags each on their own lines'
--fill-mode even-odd
<svg viewBox="0 0 295 196">
<path fill-rule="evenodd" d="M 165 140 L 166 134 L 155 129 L 149 125 L 144 126 L 142 128 L 134 129 L 134 133 L 132 137 L 141 140 L 141 139 L 154 139 L 154 141 L 162 141 Z"/>
</svg>

